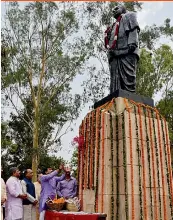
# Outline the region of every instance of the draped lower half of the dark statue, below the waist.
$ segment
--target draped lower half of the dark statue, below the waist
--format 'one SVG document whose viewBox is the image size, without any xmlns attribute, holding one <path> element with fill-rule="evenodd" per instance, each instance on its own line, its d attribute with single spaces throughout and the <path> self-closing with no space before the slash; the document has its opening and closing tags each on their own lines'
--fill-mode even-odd
<svg viewBox="0 0 173 220">
<path fill-rule="evenodd" d="M 110 63 L 110 93 L 118 89 L 135 92 L 137 56 L 128 54 L 114 57 Z"/>
</svg>

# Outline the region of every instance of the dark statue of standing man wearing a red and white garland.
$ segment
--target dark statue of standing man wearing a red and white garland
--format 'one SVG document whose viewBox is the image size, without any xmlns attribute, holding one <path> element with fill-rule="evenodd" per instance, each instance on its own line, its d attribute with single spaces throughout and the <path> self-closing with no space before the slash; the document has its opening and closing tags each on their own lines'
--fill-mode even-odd
<svg viewBox="0 0 173 220">
<path fill-rule="evenodd" d="M 110 93 L 117 89 L 135 92 L 136 68 L 139 60 L 139 25 L 134 12 L 119 5 L 113 9 L 116 22 L 105 31 L 110 67 Z"/>
</svg>

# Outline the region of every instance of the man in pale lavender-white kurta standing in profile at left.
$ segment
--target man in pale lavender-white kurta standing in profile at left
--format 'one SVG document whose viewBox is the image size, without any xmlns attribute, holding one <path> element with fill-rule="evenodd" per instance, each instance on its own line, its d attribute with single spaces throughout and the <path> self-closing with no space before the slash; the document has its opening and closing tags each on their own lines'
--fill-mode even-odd
<svg viewBox="0 0 173 220">
<path fill-rule="evenodd" d="M 9 171 L 11 177 L 6 182 L 7 201 L 5 204 L 5 219 L 22 220 L 22 201 L 27 198 L 27 194 L 22 192 L 22 185 L 19 181 L 19 169 L 17 167 L 12 167 Z"/>
</svg>

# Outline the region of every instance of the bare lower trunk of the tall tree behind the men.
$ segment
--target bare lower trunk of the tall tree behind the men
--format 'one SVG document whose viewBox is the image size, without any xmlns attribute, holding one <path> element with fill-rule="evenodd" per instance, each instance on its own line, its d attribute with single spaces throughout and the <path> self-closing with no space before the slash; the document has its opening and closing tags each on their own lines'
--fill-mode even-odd
<svg viewBox="0 0 173 220">
<path fill-rule="evenodd" d="M 32 171 L 33 171 L 33 182 L 37 181 L 37 169 L 38 169 L 38 136 L 39 136 L 39 108 L 38 105 L 35 107 L 34 117 L 34 130 L 33 130 L 33 154 L 32 154 Z"/>
</svg>

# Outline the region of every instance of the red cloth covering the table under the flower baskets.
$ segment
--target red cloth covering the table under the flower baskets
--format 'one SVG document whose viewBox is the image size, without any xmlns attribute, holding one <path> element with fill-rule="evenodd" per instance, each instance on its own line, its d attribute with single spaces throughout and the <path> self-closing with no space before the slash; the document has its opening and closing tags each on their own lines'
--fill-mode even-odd
<svg viewBox="0 0 173 220">
<path fill-rule="evenodd" d="M 100 214 L 75 215 L 75 214 L 70 214 L 70 212 L 69 214 L 63 214 L 54 211 L 46 211 L 45 220 L 98 220 L 99 217 L 101 216 L 102 215 Z"/>
</svg>

